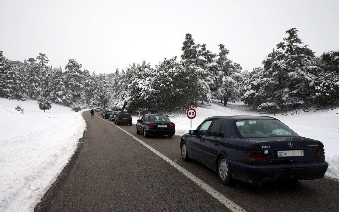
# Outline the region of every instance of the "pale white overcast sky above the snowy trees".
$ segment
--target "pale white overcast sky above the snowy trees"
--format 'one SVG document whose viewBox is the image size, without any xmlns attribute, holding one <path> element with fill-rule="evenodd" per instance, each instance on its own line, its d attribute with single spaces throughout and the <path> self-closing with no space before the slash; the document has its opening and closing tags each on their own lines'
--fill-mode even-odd
<svg viewBox="0 0 339 212">
<path fill-rule="evenodd" d="M 0 50 L 23 61 L 44 53 L 53 67 L 68 59 L 82 70 L 111 73 L 142 59 L 154 66 L 180 58 L 191 33 L 196 43 L 243 69 L 262 60 L 298 27 L 298 36 L 320 56 L 339 49 L 339 3 L 333 1 L 0 1 Z"/>
</svg>

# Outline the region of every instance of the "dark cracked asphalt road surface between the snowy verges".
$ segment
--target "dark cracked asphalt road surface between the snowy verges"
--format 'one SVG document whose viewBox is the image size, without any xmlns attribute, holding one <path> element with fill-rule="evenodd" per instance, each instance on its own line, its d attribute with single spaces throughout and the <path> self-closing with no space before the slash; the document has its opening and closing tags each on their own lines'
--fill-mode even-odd
<svg viewBox="0 0 339 212">
<path fill-rule="evenodd" d="M 96 112 L 100 116 L 100 112 Z M 232 211 L 174 166 L 115 125 L 83 113 L 83 143 L 36 212 L 49 211 Z M 248 212 L 339 211 L 339 182 L 324 178 L 297 184 L 224 186 L 200 163 L 184 162 L 180 137 L 136 134 L 119 125 Z M 234 210 L 233 210 L 234 211 Z"/>
</svg>

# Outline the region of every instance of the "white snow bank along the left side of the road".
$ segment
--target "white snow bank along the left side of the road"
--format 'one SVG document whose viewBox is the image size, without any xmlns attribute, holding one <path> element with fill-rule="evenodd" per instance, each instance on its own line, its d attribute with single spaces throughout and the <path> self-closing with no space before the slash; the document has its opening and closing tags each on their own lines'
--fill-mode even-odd
<svg viewBox="0 0 339 212">
<path fill-rule="evenodd" d="M 24 112 L 14 108 L 21 104 Z M 73 155 L 86 124 L 80 112 L 0 98 L 0 211 L 29 211 Z M 30 208 L 33 211 L 33 208 Z"/>
</svg>

